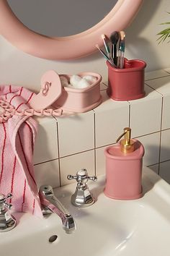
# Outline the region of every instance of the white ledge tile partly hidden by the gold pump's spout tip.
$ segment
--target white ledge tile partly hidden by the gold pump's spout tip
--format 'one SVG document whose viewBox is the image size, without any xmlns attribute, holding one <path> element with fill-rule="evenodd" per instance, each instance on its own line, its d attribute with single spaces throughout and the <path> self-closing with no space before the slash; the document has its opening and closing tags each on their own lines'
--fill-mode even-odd
<svg viewBox="0 0 170 256">
<path fill-rule="evenodd" d="M 129 125 L 128 101 L 113 101 L 106 91 L 101 94 L 103 102 L 94 108 L 96 148 L 114 143 L 123 128 Z"/>
</svg>

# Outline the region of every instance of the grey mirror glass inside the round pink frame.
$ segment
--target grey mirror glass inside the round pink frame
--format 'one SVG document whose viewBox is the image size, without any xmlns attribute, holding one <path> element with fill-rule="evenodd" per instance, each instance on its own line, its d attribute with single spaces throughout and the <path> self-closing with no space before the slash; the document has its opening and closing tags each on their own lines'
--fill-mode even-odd
<svg viewBox="0 0 170 256">
<path fill-rule="evenodd" d="M 75 35 L 93 27 L 117 0 L 7 0 L 30 30 L 50 37 Z"/>
</svg>

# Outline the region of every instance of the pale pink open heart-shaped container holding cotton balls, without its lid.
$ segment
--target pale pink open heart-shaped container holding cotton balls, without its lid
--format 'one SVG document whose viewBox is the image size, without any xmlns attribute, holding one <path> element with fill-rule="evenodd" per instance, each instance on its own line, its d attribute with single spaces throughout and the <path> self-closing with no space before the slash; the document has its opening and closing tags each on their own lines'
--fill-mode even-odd
<svg viewBox="0 0 170 256">
<path fill-rule="evenodd" d="M 82 72 L 78 74 L 80 77 L 92 75 L 97 78 L 97 81 L 86 88 L 62 88 L 61 96 L 53 103 L 53 107 L 62 108 L 64 111 L 82 113 L 91 110 L 102 102 L 100 95 L 101 75 L 93 72 Z M 70 80 L 71 75 L 61 74 Z"/>
</svg>

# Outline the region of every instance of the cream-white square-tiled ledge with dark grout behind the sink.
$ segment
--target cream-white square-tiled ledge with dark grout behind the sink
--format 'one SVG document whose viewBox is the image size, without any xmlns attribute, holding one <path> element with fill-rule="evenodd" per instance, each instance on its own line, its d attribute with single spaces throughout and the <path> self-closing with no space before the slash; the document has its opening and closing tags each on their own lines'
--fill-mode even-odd
<svg viewBox="0 0 170 256">
<path fill-rule="evenodd" d="M 170 182 L 170 69 L 146 73 L 146 96 L 135 101 L 112 101 L 101 85 L 103 102 L 83 114 L 39 118 L 35 143 L 38 186 L 68 184 L 66 176 L 86 168 L 104 174 L 104 148 L 115 143 L 124 127 L 143 143 L 143 165 Z M 165 168 L 169 166 L 169 168 Z"/>
</svg>

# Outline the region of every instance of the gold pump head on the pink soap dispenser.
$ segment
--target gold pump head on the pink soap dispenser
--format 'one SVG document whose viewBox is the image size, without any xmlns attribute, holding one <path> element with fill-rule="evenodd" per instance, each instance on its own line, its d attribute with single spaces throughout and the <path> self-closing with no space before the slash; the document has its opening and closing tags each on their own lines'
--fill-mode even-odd
<svg viewBox="0 0 170 256">
<path fill-rule="evenodd" d="M 125 127 L 123 131 L 124 132 L 122 133 L 122 135 L 120 135 L 120 137 L 117 138 L 116 142 L 118 142 L 121 139 L 121 137 L 125 135 L 125 138 L 120 141 L 120 147 L 121 147 L 120 150 L 122 153 L 125 153 L 125 154 L 131 153 L 135 150 L 135 142 L 130 139 L 131 129 L 130 127 Z"/>
</svg>

